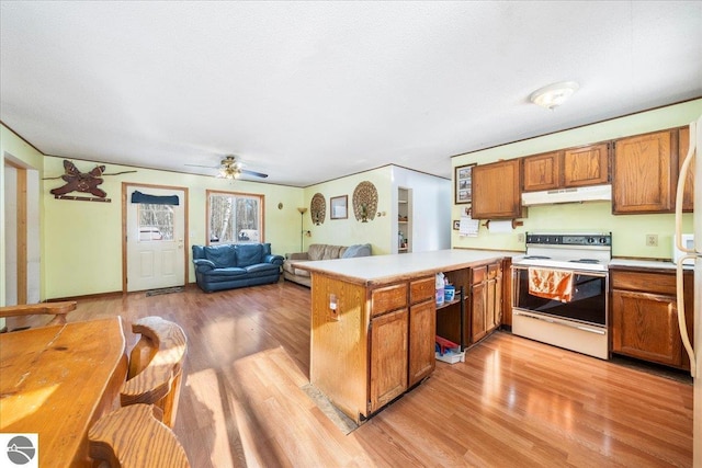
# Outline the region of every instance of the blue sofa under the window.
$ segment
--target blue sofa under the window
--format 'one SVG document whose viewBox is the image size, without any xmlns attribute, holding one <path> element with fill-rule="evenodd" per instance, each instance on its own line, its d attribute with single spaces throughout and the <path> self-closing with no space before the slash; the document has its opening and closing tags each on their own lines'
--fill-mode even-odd
<svg viewBox="0 0 702 468">
<path fill-rule="evenodd" d="M 275 283 L 284 260 L 271 254 L 270 243 L 193 246 L 195 279 L 205 293 Z"/>
</svg>

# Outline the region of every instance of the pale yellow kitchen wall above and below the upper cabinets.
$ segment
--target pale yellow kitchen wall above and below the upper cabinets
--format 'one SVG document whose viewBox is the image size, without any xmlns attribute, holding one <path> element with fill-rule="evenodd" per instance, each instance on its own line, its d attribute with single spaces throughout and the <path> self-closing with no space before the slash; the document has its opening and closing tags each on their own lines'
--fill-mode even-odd
<svg viewBox="0 0 702 468">
<path fill-rule="evenodd" d="M 558 112 L 556 109 L 553 112 Z M 661 107 L 655 111 L 615 118 L 553 135 L 532 138 L 500 147 L 460 155 L 452 159 L 452 167 L 473 162 L 479 164 L 500 159 L 512 159 L 536 155 L 562 148 L 604 141 L 630 135 L 687 125 L 702 115 L 702 99 L 683 104 Z M 453 219 L 469 205 L 453 205 Z M 480 227 L 477 238 L 460 237 L 452 233 L 454 248 L 507 249 L 523 251 L 523 242 L 518 235 L 528 231 L 588 230 L 611 231 L 612 254 L 614 256 L 637 256 L 647 259 L 670 259 L 672 254 L 673 215 L 620 215 L 611 214 L 609 202 L 565 204 L 529 207 L 523 218 L 524 226 L 511 233 L 490 233 Z M 683 215 L 683 229 L 692 231 L 692 215 Z M 645 244 L 646 235 L 658 235 L 658 247 Z"/>
</svg>

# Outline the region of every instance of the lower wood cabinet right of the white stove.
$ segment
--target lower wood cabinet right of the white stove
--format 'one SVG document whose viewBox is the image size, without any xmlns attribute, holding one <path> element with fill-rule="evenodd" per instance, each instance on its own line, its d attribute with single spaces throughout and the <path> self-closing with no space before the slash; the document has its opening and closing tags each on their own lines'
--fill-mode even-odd
<svg viewBox="0 0 702 468">
<path fill-rule="evenodd" d="M 678 328 L 675 271 L 613 270 L 610 281 L 612 353 L 689 369 Z M 692 336 L 693 273 L 686 272 L 684 281 L 687 328 Z"/>
</svg>

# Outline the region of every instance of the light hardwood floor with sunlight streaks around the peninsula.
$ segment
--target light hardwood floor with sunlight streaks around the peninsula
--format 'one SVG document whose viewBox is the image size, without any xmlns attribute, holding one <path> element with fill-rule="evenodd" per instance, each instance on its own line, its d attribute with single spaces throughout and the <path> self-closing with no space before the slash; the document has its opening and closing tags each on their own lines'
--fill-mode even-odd
<svg viewBox="0 0 702 468">
<path fill-rule="evenodd" d="M 507 332 L 343 435 L 301 389 L 309 289 L 79 299 L 69 321 L 156 315 L 189 339 L 176 434 L 193 467 L 690 467 L 692 387 Z M 95 336 L 99 340 L 100 336 Z"/>
</svg>

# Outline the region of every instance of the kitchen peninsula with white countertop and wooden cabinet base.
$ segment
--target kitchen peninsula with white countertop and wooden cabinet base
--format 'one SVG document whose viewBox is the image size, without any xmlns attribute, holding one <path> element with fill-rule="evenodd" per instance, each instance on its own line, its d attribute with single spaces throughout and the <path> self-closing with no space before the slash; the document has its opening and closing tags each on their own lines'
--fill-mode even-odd
<svg viewBox="0 0 702 468">
<path fill-rule="evenodd" d="M 434 369 L 435 274 L 467 282 L 512 254 L 453 249 L 295 264 L 312 274 L 312 385 L 363 422 Z M 462 315 L 466 299 L 453 305 Z"/>
</svg>

